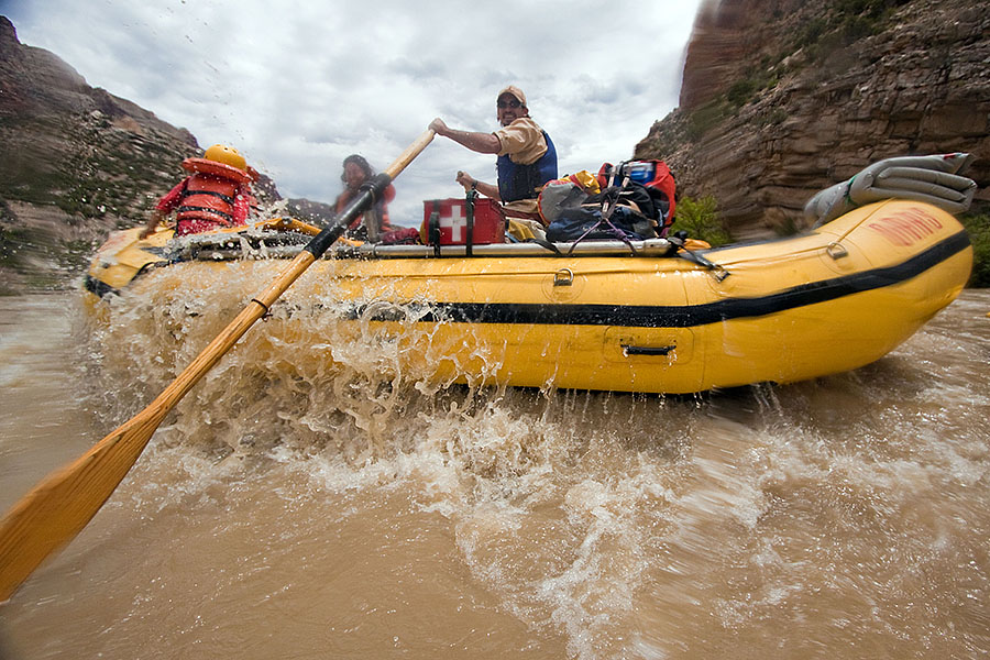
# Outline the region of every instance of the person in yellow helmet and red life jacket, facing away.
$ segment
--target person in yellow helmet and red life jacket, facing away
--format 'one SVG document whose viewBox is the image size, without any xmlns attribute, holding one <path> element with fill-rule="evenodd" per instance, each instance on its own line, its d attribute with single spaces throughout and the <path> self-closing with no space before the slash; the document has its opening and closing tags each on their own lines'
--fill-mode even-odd
<svg viewBox="0 0 990 660">
<path fill-rule="evenodd" d="M 248 223 L 249 212 L 257 206 L 251 193 L 257 173 L 238 150 L 215 144 L 202 158 L 183 161 L 183 168 L 193 174 L 158 200 L 139 238 L 152 234 L 173 211 L 177 237 Z"/>
</svg>

